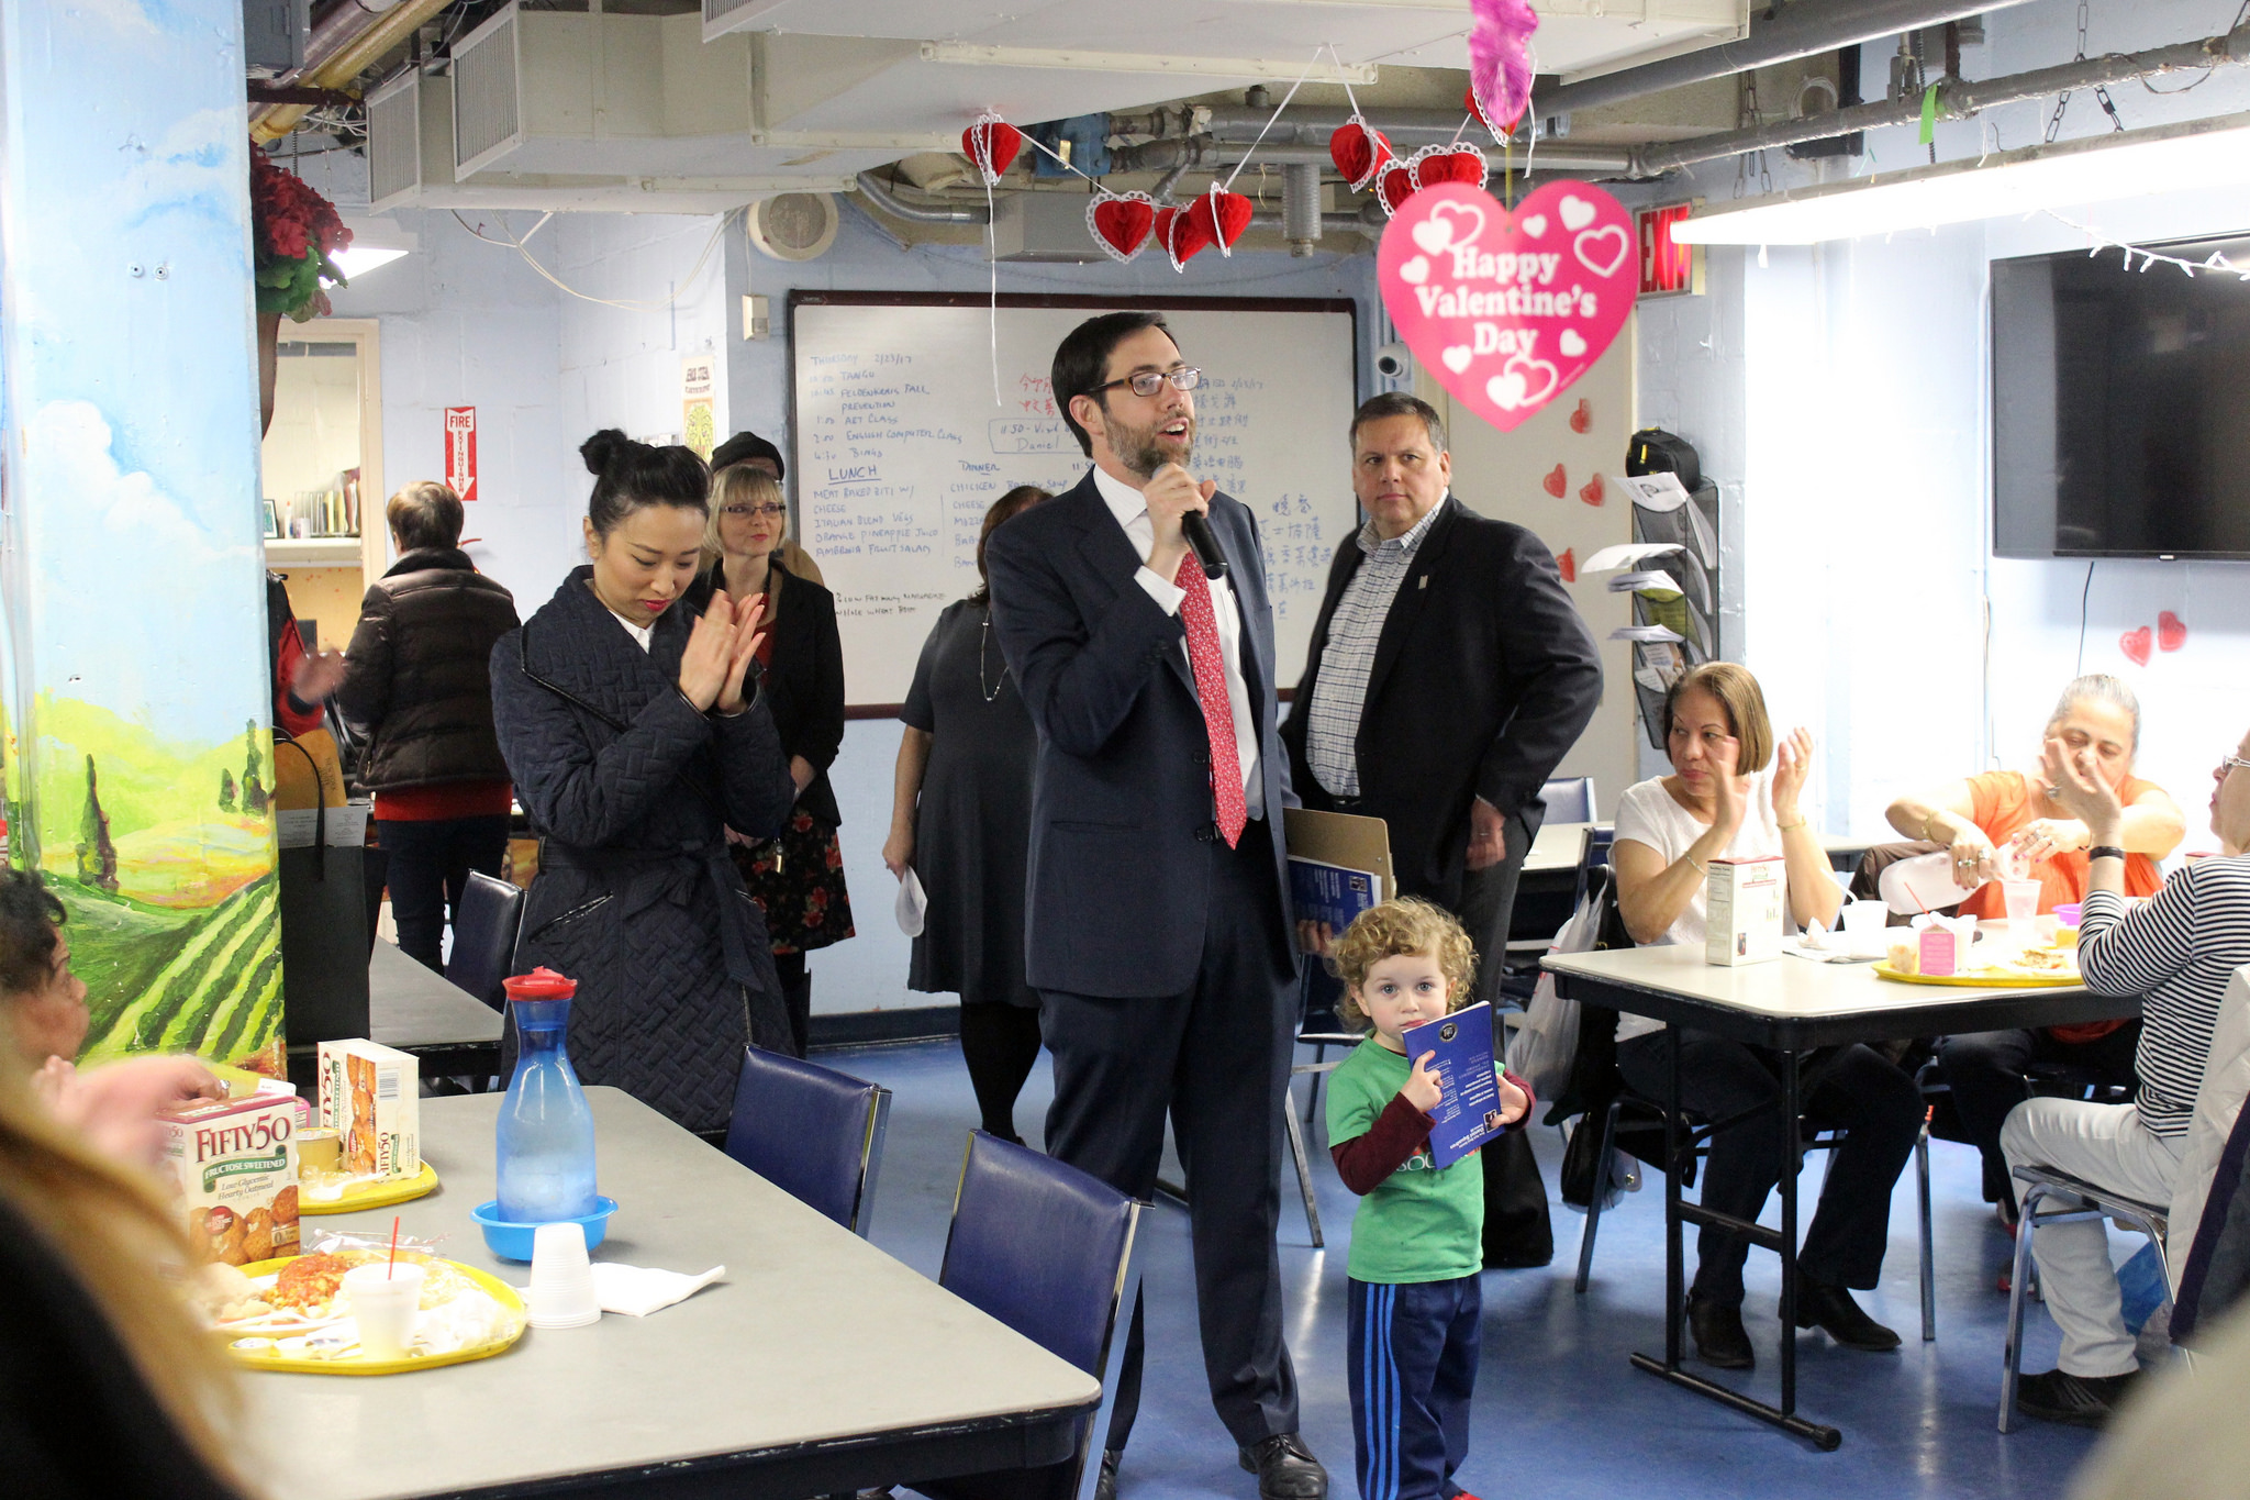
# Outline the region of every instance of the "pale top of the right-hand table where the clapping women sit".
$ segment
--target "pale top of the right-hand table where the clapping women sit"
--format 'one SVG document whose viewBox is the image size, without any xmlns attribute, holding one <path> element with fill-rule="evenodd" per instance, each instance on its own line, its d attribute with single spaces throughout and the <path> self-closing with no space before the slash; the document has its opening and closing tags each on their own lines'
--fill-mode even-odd
<svg viewBox="0 0 2250 1500">
<path fill-rule="evenodd" d="M 1557 974 L 1584 974 L 1586 978 L 1613 981 L 1634 990 L 1654 990 L 1708 1005 L 1757 1016 L 1786 1016 L 1814 1021 L 1827 1016 L 1856 1016 L 1872 1010 L 1912 1012 L 1930 1007 L 1953 1007 L 1964 1001 L 2007 996 L 2012 1001 L 2036 996 L 2084 996 L 2077 985 L 2052 990 L 2023 990 L 2014 985 L 1901 985 L 1876 978 L 1868 963 L 1811 963 L 1807 958 L 1780 956 L 1771 963 L 1714 965 L 1706 963 L 1701 947 L 1665 945 L 1640 949 L 1609 949 L 1602 954 L 1548 954 L 1541 960 Z"/>
</svg>

